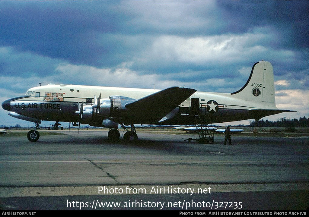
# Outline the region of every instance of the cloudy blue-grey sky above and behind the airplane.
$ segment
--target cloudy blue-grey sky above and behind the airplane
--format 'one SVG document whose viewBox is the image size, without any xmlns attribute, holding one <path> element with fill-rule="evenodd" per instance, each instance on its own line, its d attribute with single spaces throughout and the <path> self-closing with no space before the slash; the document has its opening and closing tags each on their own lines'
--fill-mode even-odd
<svg viewBox="0 0 309 217">
<path fill-rule="evenodd" d="M 308 1 L 0 1 L 0 102 L 40 82 L 231 93 L 266 60 L 277 107 L 298 112 L 264 119 L 308 117 L 308 13 Z M 0 125 L 27 126 L 7 114 Z"/>
</svg>

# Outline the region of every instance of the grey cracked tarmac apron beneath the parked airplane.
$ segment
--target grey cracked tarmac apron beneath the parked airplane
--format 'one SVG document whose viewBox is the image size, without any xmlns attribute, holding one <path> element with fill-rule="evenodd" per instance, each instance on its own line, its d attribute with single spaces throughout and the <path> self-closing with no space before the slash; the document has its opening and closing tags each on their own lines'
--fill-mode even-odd
<svg viewBox="0 0 309 217">
<path fill-rule="evenodd" d="M 57 132 L 37 142 L 27 132 L 1 135 L 0 209 L 308 208 L 308 136 L 240 134 L 224 146 L 217 134 L 214 144 L 198 144 L 184 142 L 197 135 L 138 132 L 128 144 L 109 141 L 107 131 Z"/>
</svg>

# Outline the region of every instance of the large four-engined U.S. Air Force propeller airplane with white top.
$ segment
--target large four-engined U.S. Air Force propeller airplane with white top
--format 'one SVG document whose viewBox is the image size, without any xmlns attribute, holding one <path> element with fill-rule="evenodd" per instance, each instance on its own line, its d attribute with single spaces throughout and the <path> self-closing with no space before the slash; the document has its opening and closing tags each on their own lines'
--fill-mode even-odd
<svg viewBox="0 0 309 217">
<path fill-rule="evenodd" d="M 233 93 L 197 92 L 184 87 L 154 90 L 51 83 L 30 88 L 25 96 L 5 100 L 2 108 L 15 118 L 36 123 L 28 132 L 32 142 L 40 137 L 36 129 L 41 121 L 108 127 L 111 140 L 120 138 L 120 124 L 127 131 L 123 139 L 133 142 L 138 140 L 134 124 L 190 125 L 196 115 L 207 124 L 258 121 L 291 112 L 276 107 L 273 66 L 264 60 L 253 65 L 246 84 Z M 125 127 L 129 125 L 131 130 Z"/>
</svg>

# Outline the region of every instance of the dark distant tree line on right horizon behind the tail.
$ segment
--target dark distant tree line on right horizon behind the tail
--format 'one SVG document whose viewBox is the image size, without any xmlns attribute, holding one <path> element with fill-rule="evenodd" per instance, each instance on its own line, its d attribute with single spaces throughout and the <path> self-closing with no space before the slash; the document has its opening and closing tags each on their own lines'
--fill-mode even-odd
<svg viewBox="0 0 309 217">
<path fill-rule="evenodd" d="M 309 127 L 309 118 L 298 119 L 281 118 L 277 121 L 260 120 L 250 122 L 250 127 Z"/>
</svg>

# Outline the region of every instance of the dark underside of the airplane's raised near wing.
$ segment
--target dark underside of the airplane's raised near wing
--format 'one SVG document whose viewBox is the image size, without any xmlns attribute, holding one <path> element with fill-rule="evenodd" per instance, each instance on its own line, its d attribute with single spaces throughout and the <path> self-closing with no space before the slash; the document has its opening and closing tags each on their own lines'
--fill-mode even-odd
<svg viewBox="0 0 309 217">
<path fill-rule="evenodd" d="M 195 92 L 196 90 L 190 88 L 170 87 L 129 102 L 125 107 L 133 111 L 140 120 L 159 121 Z"/>
</svg>

